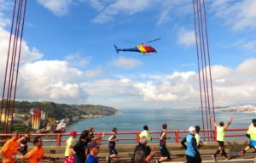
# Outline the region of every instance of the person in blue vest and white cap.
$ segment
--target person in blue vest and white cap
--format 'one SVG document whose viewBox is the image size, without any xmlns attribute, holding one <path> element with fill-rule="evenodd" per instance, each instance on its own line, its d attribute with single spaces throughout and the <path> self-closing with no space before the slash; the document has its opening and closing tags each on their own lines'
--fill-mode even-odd
<svg viewBox="0 0 256 163">
<path fill-rule="evenodd" d="M 187 143 L 187 145 L 185 144 Z M 196 139 L 195 139 L 195 127 L 189 127 L 189 135 L 186 138 L 183 138 L 181 141 L 183 148 L 186 149 L 186 159 L 187 163 L 197 163 L 196 162 L 196 153 L 197 153 L 197 146 L 196 146 Z"/>
</svg>

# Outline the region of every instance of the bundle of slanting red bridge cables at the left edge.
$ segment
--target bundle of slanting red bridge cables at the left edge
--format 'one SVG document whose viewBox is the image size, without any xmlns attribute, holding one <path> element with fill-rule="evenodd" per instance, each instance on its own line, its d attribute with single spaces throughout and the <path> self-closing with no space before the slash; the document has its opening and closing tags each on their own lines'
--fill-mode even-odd
<svg viewBox="0 0 256 163">
<path fill-rule="evenodd" d="M 18 7 L 17 7 L 17 1 L 15 0 L 13 19 L 12 19 L 11 31 L 10 31 L 10 37 L 9 37 L 9 49 L 7 53 L 6 69 L 5 69 L 5 76 L 4 76 L 4 82 L 3 82 L 3 97 L 2 97 L 1 114 L 0 114 L 0 127 L 1 127 L 1 132 L 3 133 L 12 132 L 12 126 L 13 126 L 12 123 L 14 118 L 13 115 L 14 115 L 14 109 L 15 109 L 15 97 L 16 97 L 16 89 L 17 89 L 17 82 L 18 82 L 18 72 L 19 72 L 19 66 L 20 66 L 20 53 L 21 53 L 22 37 L 23 37 L 23 30 L 24 30 L 25 14 L 26 14 L 26 0 L 19 0 Z M 15 34 L 13 36 L 14 27 L 15 27 Z M 20 37 L 20 43 L 18 43 L 19 37 Z M 19 51 L 18 61 L 17 61 L 17 50 Z M 9 63 L 10 52 L 12 52 L 12 56 L 11 56 L 11 61 Z M 7 95 L 5 95 L 6 82 L 8 82 Z M 3 124 L 1 124 L 2 121 L 3 121 Z"/>
</svg>

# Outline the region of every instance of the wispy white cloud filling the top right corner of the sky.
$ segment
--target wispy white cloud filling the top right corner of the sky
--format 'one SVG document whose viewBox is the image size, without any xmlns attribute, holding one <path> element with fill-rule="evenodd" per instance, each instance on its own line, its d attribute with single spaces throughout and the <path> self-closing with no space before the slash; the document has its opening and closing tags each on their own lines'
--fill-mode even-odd
<svg viewBox="0 0 256 163">
<path fill-rule="evenodd" d="M 234 31 L 255 29 L 256 1 L 254 0 L 218 0 L 213 1 L 212 11 L 220 18 L 224 18 Z"/>
</svg>

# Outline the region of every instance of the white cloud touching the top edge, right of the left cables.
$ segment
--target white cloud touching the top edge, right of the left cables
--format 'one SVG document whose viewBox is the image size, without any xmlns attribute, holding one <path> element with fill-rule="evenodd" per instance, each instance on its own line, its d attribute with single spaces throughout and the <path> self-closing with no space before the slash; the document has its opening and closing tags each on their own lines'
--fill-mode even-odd
<svg viewBox="0 0 256 163">
<path fill-rule="evenodd" d="M 37 0 L 38 3 L 48 8 L 55 15 L 63 16 L 68 13 L 68 9 L 73 0 Z"/>
</svg>

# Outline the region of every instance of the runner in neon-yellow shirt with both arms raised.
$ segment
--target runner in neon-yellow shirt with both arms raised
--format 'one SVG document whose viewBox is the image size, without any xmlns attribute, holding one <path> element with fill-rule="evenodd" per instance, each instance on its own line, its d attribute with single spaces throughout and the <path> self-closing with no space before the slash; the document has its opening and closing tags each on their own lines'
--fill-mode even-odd
<svg viewBox="0 0 256 163">
<path fill-rule="evenodd" d="M 232 118 L 232 116 L 230 116 L 230 121 L 228 122 L 227 125 L 224 125 L 224 122 L 220 121 L 219 122 L 219 126 L 212 119 L 212 115 L 210 115 L 210 120 L 212 121 L 213 125 L 216 127 L 216 130 L 217 130 L 217 141 L 218 141 L 218 149 L 217 149 L 216 153 L 214 155 L 212 155 L 212 158 L 213 158 L 213 160 L 215 162 L 217 162 L 216 157 L 220 153 L 220 151 L 222 151 L 222 154 L 226 158 L 225 160 L 230 160 L 230 157 L 228 157 L 228 155 L 226 154 L 225 149 L 224 149 L 224 137 L 225 137 L 225 130 L 230 126 L 233 118 Z"/>
</svg>

